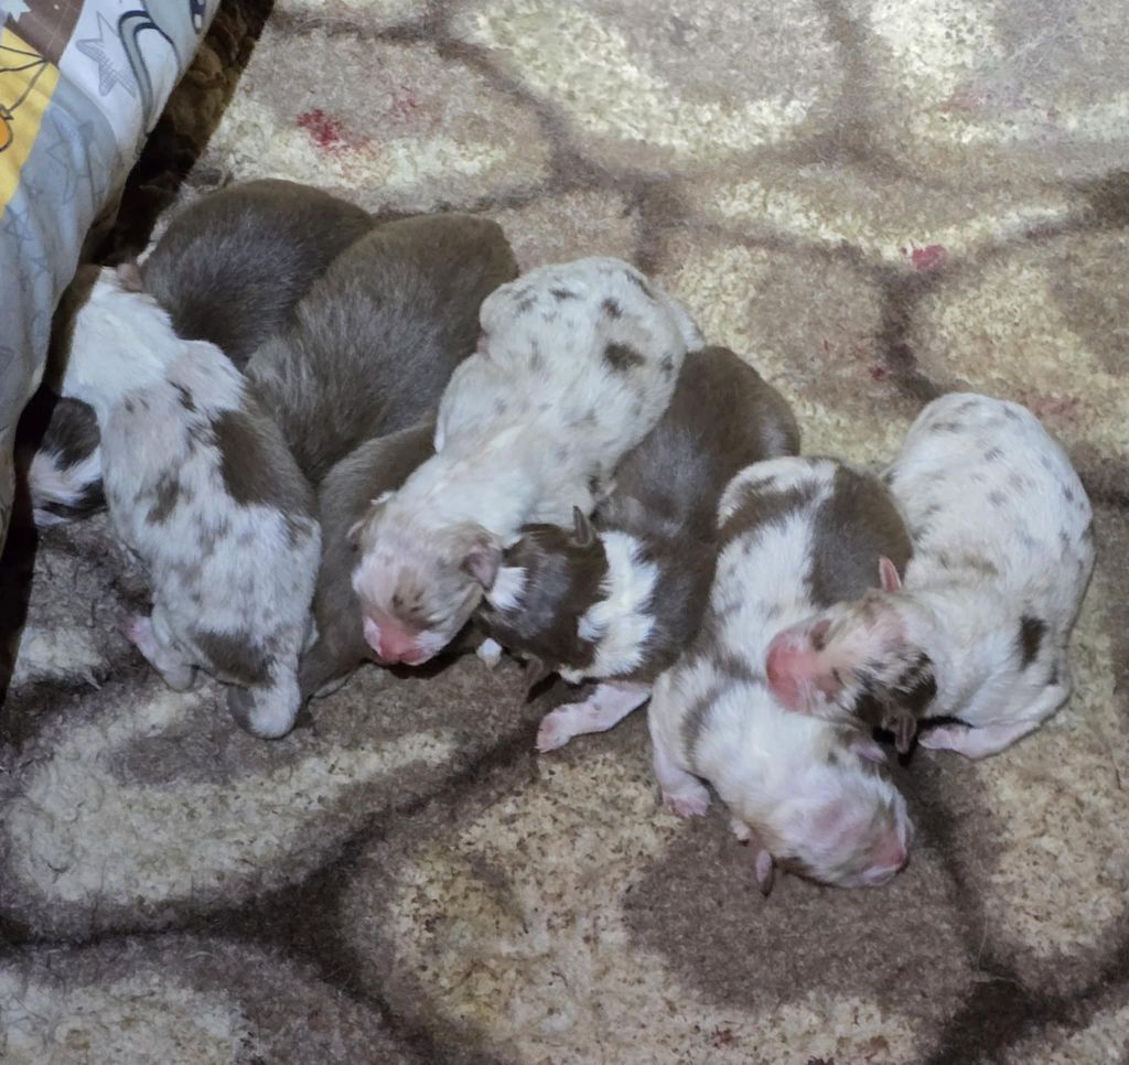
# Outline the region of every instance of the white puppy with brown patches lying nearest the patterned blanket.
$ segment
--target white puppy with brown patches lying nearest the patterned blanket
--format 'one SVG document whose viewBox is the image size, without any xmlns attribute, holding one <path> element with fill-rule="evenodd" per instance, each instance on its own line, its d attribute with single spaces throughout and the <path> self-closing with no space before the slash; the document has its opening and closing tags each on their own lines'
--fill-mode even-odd
<svg viewBox="0 0 1129 1065">
<path fill-rule="evenodd" d="M 280 736 L 321 550 L 313 492 L 278 428 L 215 344 L 182 340 L 128 270 L 96 274 L 76 315 L 63 393 L 102 431 L 111 521 L 152 584 L 129 635 L 170 688 L 201 666 L 238 686 L 236 721 Z"/>
</svg>

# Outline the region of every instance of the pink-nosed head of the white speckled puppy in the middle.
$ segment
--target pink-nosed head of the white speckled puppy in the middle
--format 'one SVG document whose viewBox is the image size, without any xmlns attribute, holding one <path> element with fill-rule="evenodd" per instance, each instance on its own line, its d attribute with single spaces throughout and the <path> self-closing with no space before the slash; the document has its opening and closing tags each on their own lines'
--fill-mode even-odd
<svg viewBox="0 0 1129 1065">
<path fill-rule="evenodd" d="M 382 662 L 421 665 L 458 634 L 495 583 L 501 544 L 479 525 L 440 530 L 377 503 L 350 533 L 366 643 Z"/>
</svg>

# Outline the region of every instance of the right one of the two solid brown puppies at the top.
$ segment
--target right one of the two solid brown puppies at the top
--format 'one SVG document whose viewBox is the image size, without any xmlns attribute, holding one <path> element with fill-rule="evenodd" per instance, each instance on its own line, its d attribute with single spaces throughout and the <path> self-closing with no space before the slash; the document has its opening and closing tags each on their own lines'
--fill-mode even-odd
<svg viewBox="0 0 1129 1065">
<path fill-rule="evenodd" d="M 247 366 L 313 483 L 365 440 L 435 416 L 482 300 L 516 274 L 501 228 L 469 215 L 388 222 L 336 259 Z"/>
</svg>

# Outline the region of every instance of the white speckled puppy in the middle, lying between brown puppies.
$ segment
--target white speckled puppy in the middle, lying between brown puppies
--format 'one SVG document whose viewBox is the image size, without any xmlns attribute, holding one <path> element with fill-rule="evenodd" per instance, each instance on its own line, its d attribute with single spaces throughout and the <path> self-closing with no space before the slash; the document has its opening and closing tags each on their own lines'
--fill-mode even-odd
<svg viewBox="0 0 1129 1065">
<path fill-rule="evenodd" d="M 682 307 L 609 259 L 531 271 L 481 321 L 480 349 L 439 407 L 437 454 L 358 529 L 353 587 L 386 662 L 441 651 L 523 525 L 592 510 L 700 343 Z"/>
</svg>

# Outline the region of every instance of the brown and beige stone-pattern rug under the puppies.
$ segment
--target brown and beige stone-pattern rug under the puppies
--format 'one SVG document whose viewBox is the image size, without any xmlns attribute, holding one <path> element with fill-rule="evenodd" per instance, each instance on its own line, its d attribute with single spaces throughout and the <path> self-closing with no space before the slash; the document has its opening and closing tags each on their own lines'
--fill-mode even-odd
<svg viewBox="0 0 1129 1065">
<path fill-rule="evenodd" d="M 255 741 L 120 635 L 145 591 L 105 520 L 50 532 L 0 712 L 0 1059 L 1129 1060 L 1123 6 L 280 0 L 233 93 L 263 14 L 221 11 L 120 247 L 199 154 L 184 195 L 286 176 L 481 211 L 525 267 L 629 257 L 811 453 L 1019 400 L 1096 512 L 1076 692 L 899 769 L 892 885 L 764 900 L 718 813 L 657 809 L 641 714 L 539 758 L 562 686 L 470 658 Z"/>
</svg>

